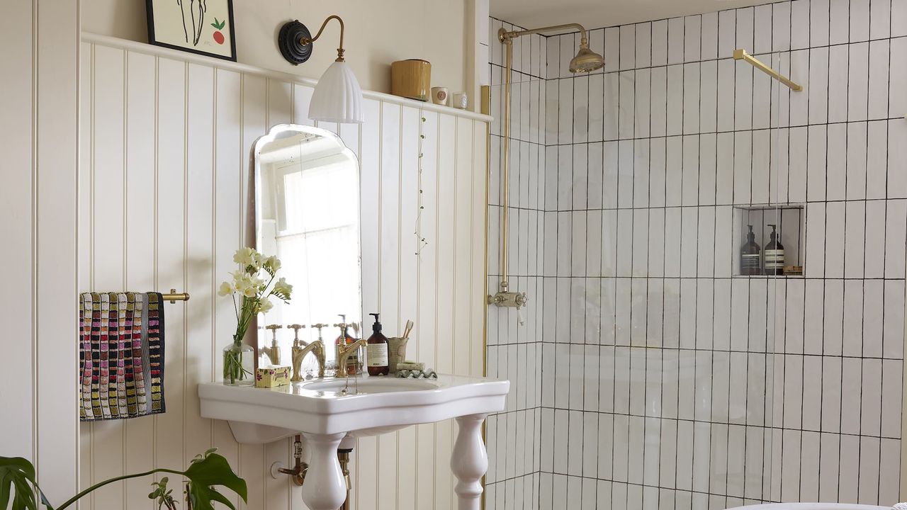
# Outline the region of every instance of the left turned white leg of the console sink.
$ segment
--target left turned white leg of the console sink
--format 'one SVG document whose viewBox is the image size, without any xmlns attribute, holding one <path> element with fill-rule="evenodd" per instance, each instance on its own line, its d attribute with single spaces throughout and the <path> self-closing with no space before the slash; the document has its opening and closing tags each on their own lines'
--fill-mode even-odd
<svg viewBox="0 0 907 510">
<path fill-rule="evenodd" d="M 337 461 L 337 445 L 346 433 L 303 436 L 310 457 L 302 500 L 311 510 L 336 510 L 346 499 L 346 480 Z"/>
</svg>

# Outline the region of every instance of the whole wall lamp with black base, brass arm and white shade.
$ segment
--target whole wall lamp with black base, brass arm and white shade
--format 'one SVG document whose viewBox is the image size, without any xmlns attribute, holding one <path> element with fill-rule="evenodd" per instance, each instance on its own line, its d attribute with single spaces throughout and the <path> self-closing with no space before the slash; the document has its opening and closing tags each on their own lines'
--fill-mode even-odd
<svg viewBox="0 0 907 510">
<path fill-rule="evenodd" d="M 285 23 L 278 33 L 278 48 L 288 63 L 293 65 L 305 63 L 312 56 L 315 41 L 321 37 L 327 22 L 332 19 L 336 19 L 340 24 L 337 58 L 334 64 L 327 67 L 327 71 L 321 75 L 315 86 L 312 101 L 308 106 L 308 118 L 329 123 L 363 123 L 366 119 L 362 108 L 362 89 L 356 80 L 356 74 L 353 74 L 344 59 L 344 25 L 340 16 L 327 16 L 314 37 L 308 31 L 308 27 L 299 23 L 299 20 Z"/>
</svg>

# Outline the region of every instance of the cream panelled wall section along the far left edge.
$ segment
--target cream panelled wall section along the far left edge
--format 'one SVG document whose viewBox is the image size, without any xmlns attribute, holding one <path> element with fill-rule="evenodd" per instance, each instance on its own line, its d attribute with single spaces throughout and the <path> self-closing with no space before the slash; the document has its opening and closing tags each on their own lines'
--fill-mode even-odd
<svg viewBox="0 0 907 510">
<path fill-rule="evenodd" d="M 80 160 L 79 3 L 50 0 L 0 7 L 6 41 L 0 57 L 0 148 L 7 166 L 3 204 L 5 255 L 13 291 L 0 299 L 15 359 L 0 376 L 4 456 L 23 456 L 37 468 L 52 501 L 79 483 L 77 435 L 77 240 Z M 8 430 L 7 430 L 8 429 Z"/>
</svg>

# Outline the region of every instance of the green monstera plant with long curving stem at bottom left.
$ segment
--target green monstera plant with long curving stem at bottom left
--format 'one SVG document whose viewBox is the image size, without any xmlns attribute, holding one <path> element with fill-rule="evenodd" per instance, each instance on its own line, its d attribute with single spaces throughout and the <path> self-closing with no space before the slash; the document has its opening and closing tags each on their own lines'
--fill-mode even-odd
<svg viewBox="0 0 907 510">
<path fill-rule="evenodd" d="M 73 505 L 81 497 L 103 485 L 128 478 L 149 476 L 155 473 L 170 473 L 189 478 L 187 490 L 192 508 L 195 510 L 214 510 L 213 502 L 215 501 L 227 505 L 232 510 L 236 510 L 236 507 L 227 499 L 227 496 L 220 494 L 214 486 L 222 485 L 227 487 L 239 495 L 244 502 L 248 503 L 246 481 L 237 476 L 236 473 L 233 473 L 226 458 L 214 453 L 216 449 L 211 448 L 204 454 L 196 456 L 192 459 L 189 469 L 186 471 L 158 468 L 144 473 L 117 476 L 104 480 L 99 484 L 88 487 L 77 495 L 73 495 L 63 505 L 57 507 L 56 510 L 63 510 Z M 172 502 L 172 498 L 169 498 L 170 491 L 167 489 L 166 479 L 164 477 L 161 482 L 151 484 L 156 488 L 149 497 L 157 499 L 159 505 L 163 505 L 161 501 L 168 499 L 169 503 Z M 5 510 L 6 508 L 11 508 L 12 510 L 39 510 L 35 493 L 40 496 L 41 505 L 48 510 L 54 510 L 54 506 L 47 501 L 44 493 L 41 492 L 41 488 L 34 481 L 34 466 L 32 463 L 22 457 L 0 456 L 0 510 Z M 12 505 L 10 505 L 11 502 Z"/>
</svg>

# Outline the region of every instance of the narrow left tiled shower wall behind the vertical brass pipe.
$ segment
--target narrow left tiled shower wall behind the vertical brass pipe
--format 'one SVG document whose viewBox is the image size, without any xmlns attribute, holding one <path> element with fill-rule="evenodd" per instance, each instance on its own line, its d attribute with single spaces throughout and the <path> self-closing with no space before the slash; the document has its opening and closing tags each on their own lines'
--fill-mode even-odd
<svg viewBox="0 0 907 510">
<path fill-rule="evenodd" d="M 488 291 L 498 289 L 502 209 L 502 45 L 497 31 L 514 26 L 492 19 L 491 125 L 488 230 Z M 519 29 L 519 27 L 516 27 Z M 487 508 L 538 508 L 541 437 L 542 246 L 544 231 L 544 101 L 547 45 L 538 34 L 522 37 L 513 47 L 511 102 L 510 288 L 525 292 L 529 304 L 519 312 L 488 308 L 487 373 L 511 380 L 504 412 L 488 417 Z"/>
</svg>

